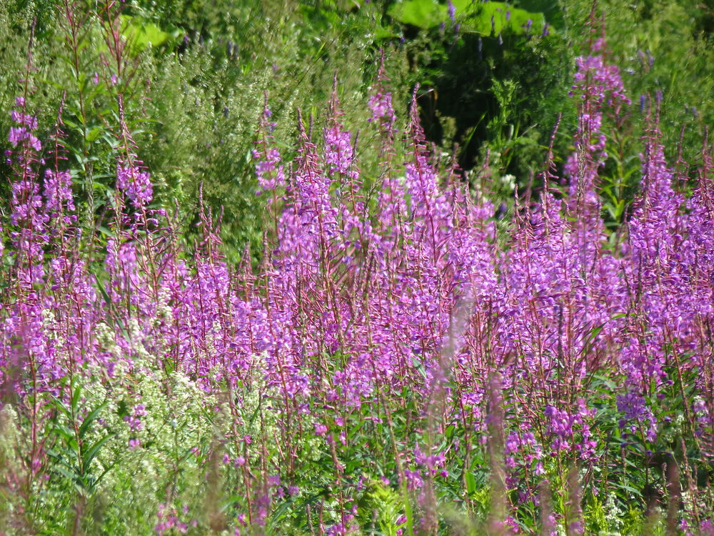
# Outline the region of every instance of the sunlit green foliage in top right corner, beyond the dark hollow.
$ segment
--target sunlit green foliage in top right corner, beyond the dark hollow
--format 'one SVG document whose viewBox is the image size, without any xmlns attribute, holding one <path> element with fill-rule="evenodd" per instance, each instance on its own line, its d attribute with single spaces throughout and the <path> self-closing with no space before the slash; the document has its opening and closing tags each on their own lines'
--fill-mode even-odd
<svg viewBox="0 0 714 536">
<path fill-rule="evenodd" d="M 563 3 L 568 34 L 581 53 L 588 47 L 584 23 L 590 4 L 586 0 Z M 677 162 L 681 147 L 684 162 L 697 162 L 703 130 L 714 120 L 708 98 L 714 91 L 713 28 L 707 22 L 711 8 L 693 0 L 605 0 L 598 1 L 597 14 L 604 19 L 608 54 L 620 66 L 625 89 L 635 101 L 625 157 L 636 155 L 633 146 L 645 129 L 638 96 L 649 95 L 650 101 L 656 101 L 661 92 L 660 125 L 668 161 Z M 613 129 L 612 134 L 617 137 L 618 131 Z M 636 182 L 630 184 L 636 187 Z"/>
</svg>

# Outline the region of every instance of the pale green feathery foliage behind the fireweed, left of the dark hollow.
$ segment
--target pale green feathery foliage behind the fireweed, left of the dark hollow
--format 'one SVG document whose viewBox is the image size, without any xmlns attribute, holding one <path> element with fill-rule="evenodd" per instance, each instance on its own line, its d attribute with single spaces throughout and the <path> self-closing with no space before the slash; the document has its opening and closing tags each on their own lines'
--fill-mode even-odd
<svg viewBox="0 0 714 536">
<path fill-rule="evenodd" d="M 24 76 L 31 22 L 40 10 L 29 5 L 17 11 L 14 3 L 6 3 L 0 34 L 7 39 L 0 54 L 15 75 L 3 79 L 6 86 L 0 87 L 3 150 L 9 148 L 9 109 L 19 94 L 13 80 Z M 290 139 L 297 107 L 315 116 L 320 128 L 322 110 L 314 103 L 326 101 L 336 74 L 343 109 L 364 121 L 355 125 L 360 128 L 366 117 L 358 104 L 376 75 L 376 35 L 391 34 L 381 26 L 376 7 L 352 11 L 329 3 L 258 0 L 179 1 L 176 9 L 169 4 L 124 5 L 120 30 L 129 70 L 116 83 L 111 62 L 104 61 L 107 49 L 96 6 L 70 2 L 74 16 L 85 21 L 76 37 L 67 27 L 63 6 L 47 6 L 59 24 L 34 40 L 32 81 L 37 92 L 31 106 L 42 106 L 40 131 L 51 131 L 64 96 L 63 144 L 81 192 L 80 214 L 91 232 L 104 227 L 101 220 L 114 195 L 121 93 L 122 116 L 154 177 L 155 197 L 165 206 L 175 199 L 182 214 L 188 214 L 181 227 L 188 242 L 198 222 L 203 187 L 203 202 L 214 214 L 223 214 L 228 259 L 240 259 L 246 245 L 258 255 L 264 211 L 255 194 L 251 149 L 263 92 L 280 125 L 274 133 L 280 142 Z M 389 66 L 400 64 L 401 53 L 388 60 Z"/>
</svg>

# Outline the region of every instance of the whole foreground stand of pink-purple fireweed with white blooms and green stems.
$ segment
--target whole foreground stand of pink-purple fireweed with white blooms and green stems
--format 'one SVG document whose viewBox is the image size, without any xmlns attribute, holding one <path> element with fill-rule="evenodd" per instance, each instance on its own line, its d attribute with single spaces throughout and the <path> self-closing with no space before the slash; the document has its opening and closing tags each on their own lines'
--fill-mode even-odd
<svg viewBox="0 0 714 536">
<path fill-rule="evenodd" d="M 630 101 L 603 46 L 578 59 L 564 176 L 549 154 L 500 234 L 488 182 L 437 165 L 414 102 L 398 128 L 383 71 L 361 134 L 376 177 L 336 89 L 321 132 L 298 111 L 287 159 L 266 101 L 258 269 L 228 266 L 219 218 L 185 244 L 151 204 L 121 93 L 109 239 L 87 233 L 62 110 L 40 139 L 26 82 L 1 222 L 0 530 L 713 534 L 711 148 L 685 197 L 648 102 L 612 247 L 601 126 Z"/>
</svg>

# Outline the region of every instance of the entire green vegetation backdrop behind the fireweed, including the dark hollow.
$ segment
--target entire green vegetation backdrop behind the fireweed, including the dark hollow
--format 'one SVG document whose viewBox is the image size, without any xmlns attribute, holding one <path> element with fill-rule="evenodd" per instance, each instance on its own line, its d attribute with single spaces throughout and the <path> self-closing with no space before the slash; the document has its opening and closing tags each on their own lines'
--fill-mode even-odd
<svg viewBox="0 0 714 536">
<path fill-rule="evenodd" d="M 93 5 L 84 5 L 88 14 Z M 319 128 L 333 76 L 346 126 L 359 130 L 384 51 L 402 119 L 411 89 L 421 84 L 418 102 L 428 138 L 441 152 L 458 144 L 465 180 L 470 169 L 487 167 L 491 193 L 510 206 L 516 184 L 523 189 L 540 170 L 559 114 L 556 162 L 570 150 L 565 140 L 575 124 L 575 103 L 568 91 L 575 56 L 585 54 L 593 39 L 585 26 L 592 5 L 590 0 L 457 0 L 454 5 L 452 21 L 448 5 L 437 0 L 126 2 L 123 32 L 130 41 L 132 76 L 116 83 L 130 96 L 123 103 L 125 116 L 139 157 L 158 185 L 157 202 L 178 203 L 190 239 L 203 185 L 206 204 L 223 213 L 229 259 L 240 259 L 246 246 L 255 259 L 263 210 L 250 152 L 263 93 L 278 125 L 278 144 L 286 149 L 298 107 Z M 88 15 L 74 57 L 62 10 L 59 0 L 0 0 L 0 148 L 9 149 L 9 109 L 21 90 L 34 34 L 36 91 L 30 109 L 39 112 L 41 131 L 49 132 L 65 95 L 67 146 L 84 221 L 101 232 L 101 214 L 114 187 L 111 132 L 119 128 L 118 104 L 106 87 L 111 81 L 94 83 L 106 61 L 98 20 Z M 506 11 L 512 12 L 508 21 Z M 661 91 L 670 160 L 678 157 L 683 127 L 683 160 L 698 154 L 714 113 L 714 9 L 696 0 L 608 0 L 600 1 L 595 13 L 607 34 L 607 54 L 633 96 L 630 120 L 610 125 L 603 192 L 614 226 L 625 217 L 638 182 L 633 142 L 643 129 L 640 94 L 654 98 Z M 528 19 L 530 30 L 524 28 Z M 370 155 L 376 153 L 369 151 L 370 142 L 361 139 L 359 147 L 367 177 L 374 164 Z M 8 173 L 0 167 L 0 174 Z M 0 184 L 6 189 L 6 180 Z"/>
</svg>

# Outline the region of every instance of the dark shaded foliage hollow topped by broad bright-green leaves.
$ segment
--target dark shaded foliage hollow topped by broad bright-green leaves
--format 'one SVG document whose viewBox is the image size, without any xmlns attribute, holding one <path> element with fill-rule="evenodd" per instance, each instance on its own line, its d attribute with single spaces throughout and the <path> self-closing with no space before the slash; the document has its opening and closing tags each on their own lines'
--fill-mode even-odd
<svg viewBox="0 0 714 536">
<path fill-rule="evenodd" d="M 416 24 L 428 5 L 431 14 L 421 19 L 427 22 Z M 543 12 L 494 1 L 453 6 L 454 21 L 446 4 L 436 2 L 412 0 L 388 10 L 409 38 L 426 135 L 447 150 L 458 144 L 463 169 L 488 161 L 493 177 L 512 175 L 523 187 L 543 164 L 558 115 L 574 118 L 566 98 L 573 56 L 561 32 L 544 34 Z M 557 18 L 560 11 L 551 6 L 548 14 Z M 513 188 L 493 193 L 506 201 Z"/>
</svg>

